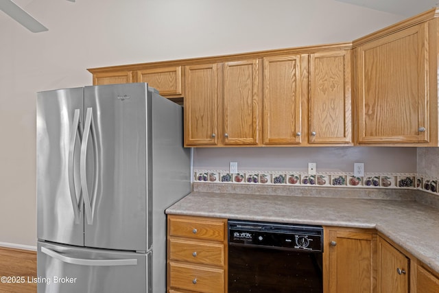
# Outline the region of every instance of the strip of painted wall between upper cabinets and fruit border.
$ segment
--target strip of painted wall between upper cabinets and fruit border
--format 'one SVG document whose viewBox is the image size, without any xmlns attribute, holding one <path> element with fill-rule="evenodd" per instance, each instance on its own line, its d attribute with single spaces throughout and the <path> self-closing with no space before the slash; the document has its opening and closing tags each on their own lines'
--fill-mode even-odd
<svg viewBox="0 0 439 293">
<path fill-rule="evenodd" d="M 306 172 L 317 163 L 318 172 L 352 173 L 354 163 L 364 163 L 370 173 L 416 173 L 416 148 L 195 148 L 194 169 L 228 170 L 229 162 L 249 171 Z"/>
</svg>

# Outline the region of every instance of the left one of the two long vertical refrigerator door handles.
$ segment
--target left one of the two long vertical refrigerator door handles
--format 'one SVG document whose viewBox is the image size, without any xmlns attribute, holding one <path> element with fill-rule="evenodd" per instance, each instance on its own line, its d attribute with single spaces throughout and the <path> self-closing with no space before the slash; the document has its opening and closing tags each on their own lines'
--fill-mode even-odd
<svg viewBox="0 0 439 293">
<path fill-rule="evenodd" d="M 76 192 L 75 189 L 75 178 L 74 178 L 74 155 L 75 155 L 75 143 L 76 137 L 79 137 L 80 143 L 82 141 L 82 127 L 81 127 L 81 117 L 80 109 L 75 109 L 75 114 L 73 115 L 73 125 L 70 132 L 70 145 L 69 145 L 69 189 L 71 204 L 73 205 L 73 215 L 75 218 L 75 224 L 80 224 L 80 210 L 82 206 L 82 196 L 81 189 Z M 80 197 L 80 203 L 78 204 L 78 195 Z"/>
</svg>

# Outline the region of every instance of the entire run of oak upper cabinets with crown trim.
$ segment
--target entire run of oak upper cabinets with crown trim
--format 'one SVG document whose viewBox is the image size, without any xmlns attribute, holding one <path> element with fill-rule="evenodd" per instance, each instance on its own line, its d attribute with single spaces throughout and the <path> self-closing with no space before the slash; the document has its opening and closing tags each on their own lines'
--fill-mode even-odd
<svg viewBox="0 0 439 293">
<path fill-rule="evenodd" d="M 351 43 L 88 69 L 185 106 L 185 145 L 438 146 L 439 10 Z"/>
</svg>

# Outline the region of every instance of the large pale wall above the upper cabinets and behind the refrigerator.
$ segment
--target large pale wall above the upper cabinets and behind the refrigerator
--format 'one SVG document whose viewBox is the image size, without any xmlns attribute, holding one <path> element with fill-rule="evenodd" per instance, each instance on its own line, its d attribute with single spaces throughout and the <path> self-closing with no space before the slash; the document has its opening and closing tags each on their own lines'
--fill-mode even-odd
<svg viewBox="0 0 439 293">
<path fill-rule="evenodd" d="M 36 245 L 37 91 L 85 70 L 350 41 L 403 19 L 333 0 L 16 0 L 49 28 L 0 12 L 0 242 Z"/>
</svg>

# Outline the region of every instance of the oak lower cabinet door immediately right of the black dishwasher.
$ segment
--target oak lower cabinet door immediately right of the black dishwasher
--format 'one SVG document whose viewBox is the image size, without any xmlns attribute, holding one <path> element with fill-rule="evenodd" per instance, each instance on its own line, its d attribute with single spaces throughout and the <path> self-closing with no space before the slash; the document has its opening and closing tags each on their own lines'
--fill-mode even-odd
<svg viewBox="0 0 439 293">
<path fill-rule="evenodd" d="M 325 232 L 326 233 L 326 232 Z M 372 233 L 329 230 L 325 240 L 329 293 L 374 292 L 373 258 L 376 236 Z M 392 291 L 390 291 L 392 292 Z"/>
</svg>

